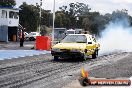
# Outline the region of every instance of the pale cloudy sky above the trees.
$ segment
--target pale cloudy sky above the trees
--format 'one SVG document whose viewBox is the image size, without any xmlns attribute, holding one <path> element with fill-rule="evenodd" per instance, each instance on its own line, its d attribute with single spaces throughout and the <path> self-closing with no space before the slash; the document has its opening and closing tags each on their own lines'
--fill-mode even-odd
<svg viewBox="0 0 132 88">
<path fill-rule="evenodd" d="M 16 0 L 17 6 L 20 6 L 22 2 L 27 4 L 40 3 L 40 0 Z M 54 0 L 42 0 L 42 8 L 45 10 L 53 10 Z M 67 5 L 69 3 L 85 3 L 91 8 L 91 11 L 98 11 L 101 14 L 112 13 L 112 11 L 127 9 L 128 14 L 132 16 L 132 0 L 55 0 L 55 9 Z"/>
</svg>

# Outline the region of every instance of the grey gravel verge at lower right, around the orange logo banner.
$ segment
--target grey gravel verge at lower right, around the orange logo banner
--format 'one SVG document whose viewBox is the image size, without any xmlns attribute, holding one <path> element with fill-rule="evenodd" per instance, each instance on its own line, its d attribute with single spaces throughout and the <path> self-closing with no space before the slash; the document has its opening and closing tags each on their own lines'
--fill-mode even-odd
<svg viewBox="0 0 132 88">
<path fill-rule="evenodd" d="M 119 55 L 119 54 L 118 54 Z M 103 56 L 102 59 L 105 64 L 102 64 L 102 61 L 95 67 L 90 65 L 84 65 L 85 69 L 89 72 L 89 77 L 95 78 L 124 78 L 129 79 L 132 77 L 132 53 L 123 53 L 121 55 L 112 55 Z M 90 67 L 88 67 L 90 66 Z M 63 88 L 132 88 L 132 86 L 87 86 L 82 87 L 78 80 L 72 81 L 70 84 L 64 86 Z"/>
</svg>

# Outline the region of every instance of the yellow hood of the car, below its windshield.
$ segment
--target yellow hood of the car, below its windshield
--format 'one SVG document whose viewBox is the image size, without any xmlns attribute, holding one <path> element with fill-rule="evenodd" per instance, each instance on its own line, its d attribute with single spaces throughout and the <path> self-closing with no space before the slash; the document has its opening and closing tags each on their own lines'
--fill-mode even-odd
<svg viewBox="0 0 132 88">
<path fill-rule="evenodd" d="M 59 49 L 85 49 L 85 43 L 58 43 L 54 45 L 52 48 L 59 48 Z"/>
</svg>

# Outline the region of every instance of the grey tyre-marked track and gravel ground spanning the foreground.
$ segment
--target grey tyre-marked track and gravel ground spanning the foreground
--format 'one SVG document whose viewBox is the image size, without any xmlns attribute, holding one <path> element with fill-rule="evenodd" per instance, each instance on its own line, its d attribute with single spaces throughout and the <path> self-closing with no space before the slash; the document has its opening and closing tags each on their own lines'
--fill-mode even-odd
<svg viewBox="0 0 132 88">
<path fill-rule="evenodd" d="M 53 61 L 50 54 L 42 54 L 1 60 L 0 88 L 65 88 L 77 80 L 81 67 L 94 77 L 130 77 L 131 56 L 131 53 L 124 52 L 103 55 L 87 61 L 75 59 Z"/>
</svg>

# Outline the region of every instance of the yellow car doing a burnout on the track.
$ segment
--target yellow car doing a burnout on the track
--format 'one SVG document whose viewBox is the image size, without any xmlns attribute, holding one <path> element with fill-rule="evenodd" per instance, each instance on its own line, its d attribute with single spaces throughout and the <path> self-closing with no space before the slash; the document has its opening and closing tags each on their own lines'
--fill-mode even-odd
<svg viewBox="0 0 132 88">
<path fill-rule="evenodd" d="M 86 60 L 87 56 L 92 55 L 95 59 L 98 56 L 100 45 L 95 38 L 89 34 L 69 34 L 61 43 L 54 45 L 51 54 L 54 60 L 61 58 L 81 58 Z"/>
</svg>

